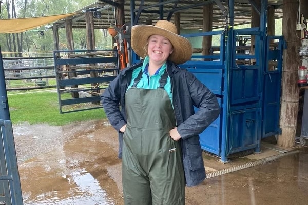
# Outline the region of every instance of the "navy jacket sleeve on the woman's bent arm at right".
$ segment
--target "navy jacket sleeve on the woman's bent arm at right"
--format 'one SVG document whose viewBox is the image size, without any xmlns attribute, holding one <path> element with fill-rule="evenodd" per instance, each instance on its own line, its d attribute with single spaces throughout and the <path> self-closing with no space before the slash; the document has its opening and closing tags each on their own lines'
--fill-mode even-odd
<svg viewBox="0 0 308 205">
<path fill-rule="evenodd" d="M 178 132 L 183 139 L 196 136 L 202 133 L 220 114 L 220 106 L 216 95 L 199 81 L 194 74 L 187 71 L 186 79 L 182 83 L 189 91 L 190 96 L 186 96 L 191 106 L 195 106 L 198 111 L 189 116 L 182 124 L 178 125 Z M 187 105 L 186 105 L 187 106 Z M 185 107 L 182 107 L 182 109 Z"/>
</svg>

